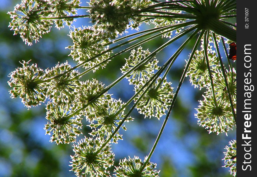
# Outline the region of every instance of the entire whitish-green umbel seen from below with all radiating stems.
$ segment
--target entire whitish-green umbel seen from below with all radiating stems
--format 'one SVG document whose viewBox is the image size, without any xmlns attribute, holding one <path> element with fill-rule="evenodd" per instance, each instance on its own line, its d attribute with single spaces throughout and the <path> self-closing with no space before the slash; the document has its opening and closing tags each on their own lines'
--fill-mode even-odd
<svg viewBox="0 0 257 177">
<path fill-rule="evenodd" d="M 71 27 L 76 18 L 89 17 L 92 22 L 91 26 L 71 27 L 69 32 L 71 44 L 66 48 L 77 65 L 73 67 L 65 62 L 42 70 L 37 64 L 22 61 L 22 67 L 11 72 L 8 81 L 11 97 L 20 97 L 28 108 L 48 101 L 45 132 L 57 145 L 74 143 L 70 166 L 76 176 L 111 176 L 109 170 L 114 163 L 114 154 L 110 143 L 117 144 L 122 140 L 120 128 L 126 130 L 123 123 L 133 120 L 130 114 L 136 108 L 145 117 L 160 119 L 165 114 L 167 116 L 149 157 L 144 161 L 136 156 L 120 160 L 114 175 L 158 177 L 160 171 L 155 170 L 156 164 L 149 160 L 186 76 L 190 77 L 195 88 L 205 89 L 195 114 L 198 124 L 209 133 L 217 134 L 227 134 L 235 127 L 236 70 L 230 59 L 236 56 L 236 26 L 227 20 L 236 17 L 235 0 L 88 0 L 88 6 L 82 6 L 81 2 L 22 0 L 14 11 L 8 12 L 12 18 L 9 27 L 15 35 L 19 33 L 28 45 L 48 33 L 53 23 L 60 29 L 64 23 Z M 78 10 L 85 14 L 77 14 Z M 144 22 L 150 25 L 149 29 L 142 31 L 139 26 Z M 131 29 L 138 31 L 120 36 Z M 176 45 L 168 49 L 176 51 L 171 58 L 159 62 L 160 51 L 185 36 L 189 37 L 178 50 Z M 170 40 L 151 51 L 148 42 L 155 42 L 157 37 Z M 173 87 L 168 81 L 174 78 L 174 75 L 169 75 L 170 69 L 189 43 L 195 45 L 173 94 Z M 227 50 L 229 44 L 230 51 Z M 145 45 L 149 49 L 142 47 Z M 109 62 L 115 62 L 118 55 L 130 50 L 123 61 L 125 65 L 119 67 L 121 76 L 110 85 L 104 86 L 91 77 L 84 80 L 83 76 L 90 71 L 99 72 Z M 225 50 L 227 57 L 221 57 L 221 50 Z M 160 63 L 165 64 L 158 66 Z M 101 74 L 97 76 L 102 77 Z M 108 94 L 124 78 L 134 85 L 135 91 L 126 102 L 116 98 L 115 94 Z M 91 131 L 78 141 L 78 136 L 84 133 L 83 125 L 90 127 Z M 236 140 L 225 149 L 225 167 L 229 167 L 231 174 L 236 176 Z"/>
</svg>

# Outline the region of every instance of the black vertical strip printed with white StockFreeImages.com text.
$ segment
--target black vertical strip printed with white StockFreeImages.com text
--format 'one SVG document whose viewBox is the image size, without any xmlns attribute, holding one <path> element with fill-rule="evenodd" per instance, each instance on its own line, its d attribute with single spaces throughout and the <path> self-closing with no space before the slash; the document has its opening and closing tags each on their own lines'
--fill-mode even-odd
<svg viewBox="0 0 257 177">
<path fill-rule="evenodd" d="M 237 1 L 237 176 L 255 177 L 257 152 L 257 6 Z M 248 49 L 248 50 L 245 50 Z M 251 49 L 251 50 L 250 50 Z"/>
</svg>

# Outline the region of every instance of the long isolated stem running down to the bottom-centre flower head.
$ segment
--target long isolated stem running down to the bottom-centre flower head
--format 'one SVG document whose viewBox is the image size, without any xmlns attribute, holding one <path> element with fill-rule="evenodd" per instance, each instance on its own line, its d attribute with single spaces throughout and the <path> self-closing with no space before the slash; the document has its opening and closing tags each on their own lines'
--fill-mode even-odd
<svg viewBox="0 0 257 177">
<path fill-rule="evenodd" d="M 197 32 L 199 32 L 199 30 L 198 30 Z M 144 170 L 144 168 L 145 168 L 145 166 L 147 165 L 147 163 L 149 162 L 149 160 L 150 160 L 152 154 L 154 153 L 154 150 L 155 150 L 155 148 L 156 148 L 156 146 L 157 146 L 157 144 L 158 144 L 158 142 L 159 142 L 159 140 L 160 140 L 160 137 L 161 137 L 161 135 L 162 135 L 162 132 L 163 132 L 163 130 L 164 130 L 164 128 L 165 128 L 165 125 L 167 124 L 167 121 L 168 121 L 168 119 L 169 119 L 169 117 L 170 117 L 170 113 L 171 113 L 171 111 L 172 111 L 172 109 L 173 109 L 173 106 L 174 106 L 174 104 L 175 104 L 175 101 L 176 101 L 176 99 L 177 99 L 177 96 L 178 96 L 178 92 L 179 92 L 179 90 L 180 90 L 180 87 L 181 87 L 181 85 L 182 85 L 182 83 L 183 83 L 183 81 L 184 81 L 184 79 L 185 79 L 185 76 L 186 76 L 186 73 L 187 73 L 187 71 L 188 71 L 189 65 L 190 65 L 190 63 L 191 63 L 191 61 L 192 61 L 192 59 L 193 59 L 193 56 L 194 56 L 194 53 L 195 53 L 196 50 L 197 50 L 197 47 L 199 46 L 199 43 L 200 43 L 200 41 L 201 41 L 201 38 L 202 38 L 203 34 L 204 34 L 204 32 L 202 31 L 201 34 L 199 35 L 198 39 L 196 40 L 196 44 L 195 44 L 194 47 L 193 47 L 193 50 L 192 50 L 192 53 L 191 53 L 190 58 L 189 58 L 189 60 L 188 60 L 188 63 L 187 63 L 187 65 L 186 65 L 186 68 L 184 69 L 184 72 L 183 72 L 183 74 L 182 74 L 182 76 L 181 76 L 181 78 L 180 78 L 180 82 L 179 82 L 179 84 L 178 84 L 178 88 L 177 88 L 177 90 L 176 90 L 176 93 L 175 93 L 174 98 L 173 98 L 173 100 L 172 100 L 172 103 L 171 103 L 171 105 L 170 105 L 170 108 L 169 108 L 169 110 L 168 110 L 168 112 L 167 112 L 167 116 L 166 116 L 166 118 L 165 118 L 165 120 L 164 120 L 164 122 L 163 122 L 163 124 L 162 124 L 161 130 L 160 130 L 160 132 L 159 132 L 159 134 L 158 134 L 158 136 L 157 136 L 157 138 L 156 138 L 156 140 L 155 140 L 155 142 L 154 142 L 154 145 L 153 145 L 153 147 L 152 147 L 152 150 L 150 151 L 149 155 L 147 156 L 147 160 L 144 162 L 144 165 L 141 166 L 141 171 L 140 171 L 141 173 L 142 173 L 142 171 Z M 140 174 L 140 173 L 139 173 L 139 174 Z"/>
</svg>

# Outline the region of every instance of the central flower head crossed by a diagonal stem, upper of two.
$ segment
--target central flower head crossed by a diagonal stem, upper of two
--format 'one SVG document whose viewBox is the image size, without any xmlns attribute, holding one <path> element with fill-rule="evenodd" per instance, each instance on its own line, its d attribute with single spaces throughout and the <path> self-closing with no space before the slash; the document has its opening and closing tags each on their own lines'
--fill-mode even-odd
<svg viewBox="0 0 257 177">
<path fill-rule="evenodd" d="M 136 66 L 139 62 L 147 58 L 151 53 L 149 50 L 142 50 L 142 47 L 138 47 L 136 50 L 133 49 L 130 53 L 128 59 L 126 59 L 125 65 L 121 68 L 121 73 L 126 73 L 131 68 Z M 155 58 L 155 57 L 154 57 Z M 138 85 L 140 80 L 147 80 L 149 76 L 154 72 L 154 70 L 159 69 L 157 66 L 158 60 L 152 59 L 148 63 L 142 64 L 132 73 L 128 74 L 126 78 L 128 78 L 129 84 Z"/>
</svg>

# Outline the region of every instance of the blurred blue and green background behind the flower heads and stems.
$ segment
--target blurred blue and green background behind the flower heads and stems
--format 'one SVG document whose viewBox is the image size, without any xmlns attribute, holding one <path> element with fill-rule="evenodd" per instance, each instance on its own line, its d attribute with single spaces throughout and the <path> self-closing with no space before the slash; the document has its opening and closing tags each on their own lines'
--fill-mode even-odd
<svg viewBox="0 0 257 177">
<path fill-rule="evenodd" d="M 74 66 L 76 63 L 65 49 L 72 44 L 67 36 L 69 27 L 57 30 L 51 29 L 49 34 L 43 35 L 39 42 L 32 46 L 25 45 L 19 35 L 14 36 L 8 27 L 10 17 L 6 14 L 12 11 L 19 0 L 0 0 L 0 177 L 74 177 L 69 171 L 70 155 L 73 155 L 71 144 L 56 145 L 49 142 L 50 136 L 43 130 L 47 123 L 45 119 L 45 106 L 27 110 L 20 99 L 11 99 L 8 93 L 8 74 L 21 66 L 19 61 L 32 60 L 42 69 L 51 68 L 59 62 L 68 62 Z M 83 2 L 85 4 L 85 2 Z M 79 14 L 83 11 L 79 11 Z M 90 25 L 89 19 L 78 19 L 76 27 Z M 141 26 L 143 30 L 148 26 Z M 174 42 L 157 55 L 161 65 L 182 44 L 184 38 Z M 147 42 L 143 49 L 153 51 L 167 39 L 157 38 Z M 176 88 L 186 64 L 192 41 L 178 60 L 172 66 L 168 81 Z M 125 63 L 129 52 L 116 57 L 103 70 L 88 73 L 84 79 L 97 78 L 107 86 L 121 76 L 120 68 Z M 225 59 L 225 58 L 224 58 Z M 226 60 L 224 60 L 226 61 Z M 174 89 L 175 90 L 175 89 Z M 152 155 L 151 162 L 157 163 L 160 177 L 226 177 L 231 176 L 229 169 L 224 165 L 223 152 L 230 140 L 235 139 L 236 130 L 225 134 L 209 134 L 204 128 L 199 127 L 195 108 L 198 100 L 202 99 L 204 90 L 194 89 L 188 78 L 184 81 L 174 109 L 167 122 L 165 130 Z M 133 86 L 124 79 L 115 88 L 109 91 L 116 99 L 127 101 L 133 94 Z M 121 130 L 123 141 L 113 144 L 112 150 L 116 154 L 115 165 L 119 159 L 134 155 L 143 159 L 152 148 L 165 116 L 160 121 L 144 119 L 135 110 L 132 114 L 133 122 L 127 123 L 127 131 Z M 85 135 L 88 132 L 84 126 Z M 79 138 L 82 138 L 80 136 Z"/>
</svg>

